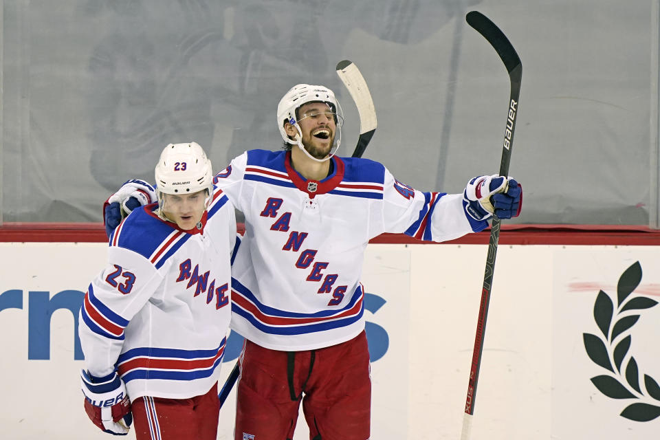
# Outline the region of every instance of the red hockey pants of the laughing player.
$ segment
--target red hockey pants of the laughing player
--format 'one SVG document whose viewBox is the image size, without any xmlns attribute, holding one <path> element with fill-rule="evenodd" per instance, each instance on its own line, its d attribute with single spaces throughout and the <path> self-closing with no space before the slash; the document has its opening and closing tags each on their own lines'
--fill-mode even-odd
<svg viewBox="0 0 660 440">
<path fill-rule="evenodd" d="M 245 342 L 234 439 L 293 439 L 301 401 L 310 439 L 369 439 L 371 377 L 364 331 L 317 350 L 276 351 Z"/>
</svg>

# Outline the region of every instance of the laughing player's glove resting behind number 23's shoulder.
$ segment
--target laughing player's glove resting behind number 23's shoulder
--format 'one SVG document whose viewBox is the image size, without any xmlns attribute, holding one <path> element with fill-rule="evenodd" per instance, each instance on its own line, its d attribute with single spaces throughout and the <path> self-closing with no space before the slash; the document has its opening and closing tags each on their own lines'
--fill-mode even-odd
<svg viewBox="0 0 660 440">
<path fill-rule="evenodd" d="M 105 232 L 110 234 L 117 228 L 122 219 L 138 206 L 148 205 L 157 201 L 156 192 L 144 180 L 131 179 L 103 204 L 103 222 Z"/>
</svg>

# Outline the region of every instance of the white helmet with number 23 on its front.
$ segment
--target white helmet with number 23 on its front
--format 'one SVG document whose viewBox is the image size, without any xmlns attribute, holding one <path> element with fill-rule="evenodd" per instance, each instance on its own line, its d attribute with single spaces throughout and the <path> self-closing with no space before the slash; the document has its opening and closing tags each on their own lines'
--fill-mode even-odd
<svg viewBox="0 0 660 440">
<path fill-rule="evenodd" d="M 201 190 L 213 192 L 211 161 L 197 142 L 169 144 L 155 169 L 158 199 L 161 193 L 183 195 Z"/>
</svg>

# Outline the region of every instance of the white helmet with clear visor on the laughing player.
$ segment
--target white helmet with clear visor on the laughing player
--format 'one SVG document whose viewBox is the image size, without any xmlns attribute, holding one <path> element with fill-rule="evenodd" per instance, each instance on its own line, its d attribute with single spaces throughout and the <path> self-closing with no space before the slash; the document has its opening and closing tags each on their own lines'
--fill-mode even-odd
<svg viewBox="0 0 660 440">
<path fill-rule="evenodd" d="M 300 108 L 300 106 L 303 104 L 307 104 L 307 102 L 325 102 L 328 104 L 333 115 L 335 115 L 335 122 L 338 129 L 337 148 L 339 148 L 342 142 L 341 125 L 344 122 L 342 107 L 337 102 L 333 91 L 322 85 L 294 85 L 294 87 L 289 89 L 289 91 L 287 91 L 287 93 L 280 100 L 280 103 L 277 105 L 277 126 L 284 142 L 287 142 L 288 144 L 296 144 L 300 147 L 301 150 L 307 153 L 307 150 L 305 150 L 302 142 L 300 142 L 300 139 L 303 137 L 303 133 L 300 131 L 300 126 L 298 125 L 298 117 L 296 115 L 296 109 Z M 292 140 L 289 138 L 289 136 L 287 136 L 287 132 L 284 129 L 286 122 L 289 122 L 289 124 L 292 124 L 296 127 L 296 130 L 298 130 L 298 137 L 296 140 Z M 311 157 L 309 153 L 307 153 L 307 155 L 317 162 L 324 162 L 325 160 L 332 157 L 336 151 L 337 150 L 329 155 L 329 157 L 322 160 Z"/>
</svg>

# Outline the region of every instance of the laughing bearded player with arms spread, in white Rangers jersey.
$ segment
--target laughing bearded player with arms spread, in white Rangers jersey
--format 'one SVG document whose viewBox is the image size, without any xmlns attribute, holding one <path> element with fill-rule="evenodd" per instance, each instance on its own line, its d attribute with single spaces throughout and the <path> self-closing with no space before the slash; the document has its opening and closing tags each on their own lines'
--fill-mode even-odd
<svg viewBox="0 0 660 440">
<path fill-rule="evenodd" d="M 451 240 L 483 230 L 493 212 L 519 212 L 514 179 L 475 177 L 463 194 L 421 192 L 378 162 L 334 155 L 339 109 L 326 87 L 296 85 L 277 109 L 285 151 L 246 151 L 214 179 L 245 214 L 232 266 L 232 328 L 246 338 L 236 440 L 292 439 L 301 401 L 311 439 L 369 439 L 360 284 L 369 239 Z M 105 220 L 112 230 L 118 216 Z"/>
</svg>

